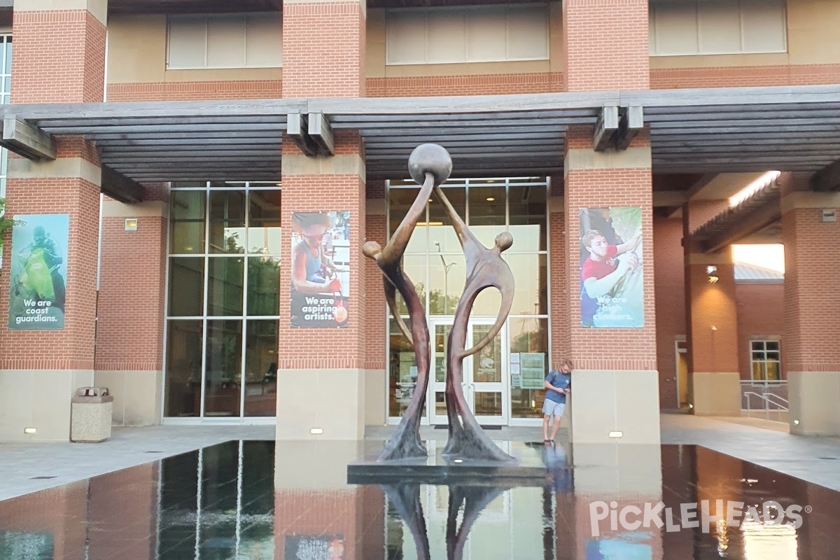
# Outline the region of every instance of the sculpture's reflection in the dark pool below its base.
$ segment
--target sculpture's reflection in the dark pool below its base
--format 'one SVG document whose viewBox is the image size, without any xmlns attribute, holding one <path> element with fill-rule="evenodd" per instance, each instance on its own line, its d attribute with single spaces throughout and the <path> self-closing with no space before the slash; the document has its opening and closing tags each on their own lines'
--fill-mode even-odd
<svg viewBox="0 0 840 560">
<path fill-rule="evenodd" d="M 385 490 L 388 502 L 402 517 L 412 533 L 418 560 L 430 560 L 426 518 L 423 516 L 423 504 L 420 501 L 422 484 L 380 484 Z M 464 545 L 470 536 L 475 521 L 487 505 L 512 489 L 512 486 L 476 486 L 449 484 L 449 507 L 446 514 L 446 560 L 461 560 L 464 557 Z M 463 510 L 461 525 L 458 526 L 459 511 Z"/>
</svg>

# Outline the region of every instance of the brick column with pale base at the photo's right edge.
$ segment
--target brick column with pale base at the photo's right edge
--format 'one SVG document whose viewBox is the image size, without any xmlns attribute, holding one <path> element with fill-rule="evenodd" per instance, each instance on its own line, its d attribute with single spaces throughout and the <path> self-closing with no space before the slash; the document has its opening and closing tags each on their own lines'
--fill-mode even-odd
<svg viewBox="0 0 840 560">
<path fill-rule="evenodd" d="M 785 243 L 785 332 L 781 347 L 787 369 L 790 432 L 840 436 L 840 301 L 832 285 L 840 262 L 830 255 L 840 243 L 840 194 L 807 191 L 807 177 L 782 181 L 782 240 Z"/>
</svg>

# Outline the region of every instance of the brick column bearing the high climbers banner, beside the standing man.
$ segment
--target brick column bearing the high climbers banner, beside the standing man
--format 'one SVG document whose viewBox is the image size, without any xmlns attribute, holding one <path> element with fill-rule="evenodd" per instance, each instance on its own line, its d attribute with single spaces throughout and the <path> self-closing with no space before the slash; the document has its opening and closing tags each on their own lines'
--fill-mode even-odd
<svg viewBox="0 0 840 560">
<path fill-rule="evenodd" d="M 569 92 L 648 88 L 648 1 L 567 0 L 564 80 Z M 620 39 L 606 40 L 617 37 Z M 659 443 L 654 314 L 653 194 L 647 133 L 626 150 L 596 152 L 592 129 L 570 127 L 564 161 L 564 223 L 570 301 L 572 441 Z M 581 326 L 580 210 L 640 207 L 642 327 Z M 563 273 L 566 274 L 566 273 Z M 556 322 L 555 322 L 556 324 Z M 622 432 L 613 439 L 610 432 Z"/>
</svg>

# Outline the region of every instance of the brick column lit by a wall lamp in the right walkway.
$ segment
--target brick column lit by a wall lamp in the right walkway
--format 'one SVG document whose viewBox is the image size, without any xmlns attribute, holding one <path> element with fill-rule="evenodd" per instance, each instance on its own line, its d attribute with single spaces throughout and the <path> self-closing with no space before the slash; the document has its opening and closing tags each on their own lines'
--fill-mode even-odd
<svg viewBox="0 0 840 560">
<path fill-rule="evenodd" d="M 690 238 L 727 207 L 727 201 L 691 201 L 683 207 L 689 402 L 696 415 L 741 416 L 732 248 L 703 253 Z M 717 267 L 717 282 L 709 281 L 709 266 Z"/>
</svg>

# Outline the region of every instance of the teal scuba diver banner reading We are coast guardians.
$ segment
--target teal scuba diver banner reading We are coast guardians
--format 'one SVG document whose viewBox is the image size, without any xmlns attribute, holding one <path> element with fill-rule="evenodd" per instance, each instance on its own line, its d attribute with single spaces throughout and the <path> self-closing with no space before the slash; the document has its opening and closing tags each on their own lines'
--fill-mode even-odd
<svg viewBox="0 0 840 560">
<path fill-rule="evenodd" d="M 13 331 L 64 328 L 69 214 L 15 216 L 8 295 Z"/>
</svg>

